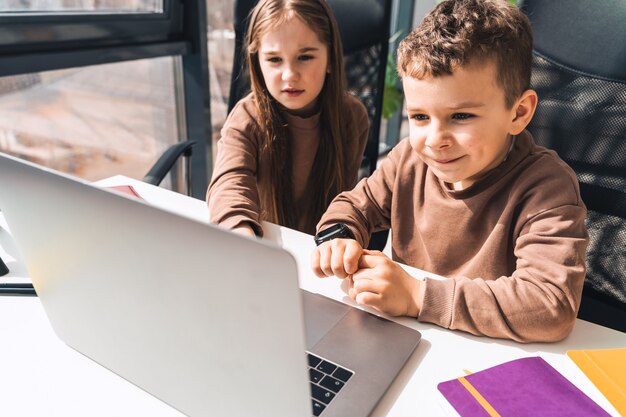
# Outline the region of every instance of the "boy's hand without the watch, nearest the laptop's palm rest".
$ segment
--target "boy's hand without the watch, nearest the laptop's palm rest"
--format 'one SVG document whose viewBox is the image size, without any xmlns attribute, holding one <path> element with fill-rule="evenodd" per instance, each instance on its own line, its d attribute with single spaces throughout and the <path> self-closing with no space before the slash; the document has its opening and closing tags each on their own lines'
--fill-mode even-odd
<svg viewBox="0 0 626 417">
<path fill-rule="evenodd" d="M 392 316 L 417 317 L 420 312 L 420 281 L 378 251 L 364 250 L 359 269 L 352 275 L 348 295 Z"/>
</svg>

